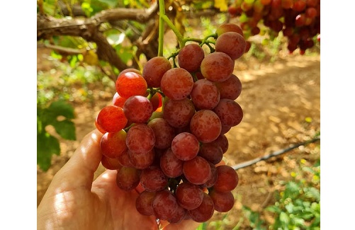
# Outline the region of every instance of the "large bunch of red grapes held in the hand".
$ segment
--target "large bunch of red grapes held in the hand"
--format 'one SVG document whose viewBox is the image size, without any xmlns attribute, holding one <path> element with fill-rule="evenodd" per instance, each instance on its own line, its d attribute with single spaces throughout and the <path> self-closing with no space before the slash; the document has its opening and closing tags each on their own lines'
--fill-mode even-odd
<svg viewBox="0 0 355 230">
<path fill-rule="evenodd" d="M 225 134 L 242 121 L 235 99 L 242 84 L 235 60 L 247 49 L 240 26 L 220 25 L 205 52 L 190 42 L 176 55 L 125 69 L 112 105 L 95 125 L 103 133 L 101 163 L 117 170 L 122 190 L 137 190 L 137 211 L 171 224 L 206 222 L 235 203 L 237 172 L 225 164 Z"/>
</svg>

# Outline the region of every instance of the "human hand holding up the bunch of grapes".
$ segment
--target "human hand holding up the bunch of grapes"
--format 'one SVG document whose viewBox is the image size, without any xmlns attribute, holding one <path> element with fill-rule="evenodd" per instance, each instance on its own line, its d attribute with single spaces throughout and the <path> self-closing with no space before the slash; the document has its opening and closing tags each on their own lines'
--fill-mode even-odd
<svg viewBox="0 0 355 230">
<path fill-rule="evenodd" d="M 94 180 L 101 162 L 101 132 L 87 134 L 71 159 L 58 171 L 37 209 L 37 229 L 158 229 L 155 217 L 137 212 L 136 190 L 120 190 L 115 170 Z M 93 181 L 94 180 L 94 181 Z M 161 228 L 196 229 L 200 223 L 162 222 Z"/>
</svg>

